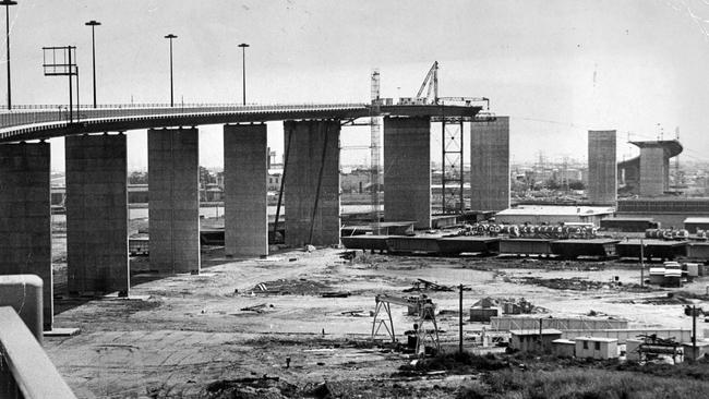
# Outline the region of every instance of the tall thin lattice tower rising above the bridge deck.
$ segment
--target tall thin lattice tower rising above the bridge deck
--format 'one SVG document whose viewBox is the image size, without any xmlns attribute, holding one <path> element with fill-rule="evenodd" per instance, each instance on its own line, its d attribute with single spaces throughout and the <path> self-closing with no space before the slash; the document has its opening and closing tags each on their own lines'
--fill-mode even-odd
<svg viewBox="0 0 709 399">
<path fill-rule="evenodd" d="M 380 148 L 381 148 L 381 118 L 380 118 L 380 71 L 372 72 L 372 107 L 370 108 L 370 190 L 372 192 L 372 228 L 374 233 L 380 231 Z"/>
</svg>

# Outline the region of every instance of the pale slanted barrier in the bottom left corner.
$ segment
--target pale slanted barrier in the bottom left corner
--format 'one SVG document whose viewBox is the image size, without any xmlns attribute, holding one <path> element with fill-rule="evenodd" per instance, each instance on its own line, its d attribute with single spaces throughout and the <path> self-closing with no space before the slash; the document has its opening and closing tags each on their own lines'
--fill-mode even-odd
<svg viewBox="0 0 709 399">
<path fill-rule="evenodd" d="M 76 399 L 25 323 L 0 307 L 0 397 Z"/>
</svg>

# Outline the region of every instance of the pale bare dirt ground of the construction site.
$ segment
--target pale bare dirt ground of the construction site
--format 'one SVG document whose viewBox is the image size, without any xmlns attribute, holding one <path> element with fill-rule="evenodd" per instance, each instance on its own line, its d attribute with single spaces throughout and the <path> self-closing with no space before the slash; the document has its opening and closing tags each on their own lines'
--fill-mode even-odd
<svg viewBox="0 0 709 399">
<path fill-rule="evenodd" d="M 80 398 L 455 397 L 477 376 L 396 374 L 411 359 L 370 339 L 375 294 L 411 295 L 402 290 L 422 278 L 468 286 L 464 314 L 484 297 L 524 297 L 544 309 L 544 316 L 592 311 L 626 318 L 632 327 L 690 328 L 683 304 L 657 299 L 678 290 L 700 295 L 709 285 L 699 278 L 682 289 L 640 290 L 634 263 L 361 252 L 350 263 L 341 253 L 321 249 L 231 259 L 215 249 L 203 253 L 201 275 L 139 271 L 129 299 L 58 300 L 56 326 L 79 327 L 81 334 L 47 338 L 45 348 Z M 132 269 L 145 262 L 132 259 Z M 59 263 L 58 276 L 61 269 Z M 616 276 L 622 286 L 612 283 Z M 349 297 L 322 297 L 332 292 Z M 442 341 L 457 348 L 457 291 L 426 293 L 441 310 Z M 692 301 L 709 307 L 698 298 Z M 406 342 L 401 332 L 411 329 L 413 317 L 392 309 L 397 337 Z M 465 323 L 467 349 L 483 326 Z M 698 326 L 701 337 L 705 323 Z"/>
</svg>

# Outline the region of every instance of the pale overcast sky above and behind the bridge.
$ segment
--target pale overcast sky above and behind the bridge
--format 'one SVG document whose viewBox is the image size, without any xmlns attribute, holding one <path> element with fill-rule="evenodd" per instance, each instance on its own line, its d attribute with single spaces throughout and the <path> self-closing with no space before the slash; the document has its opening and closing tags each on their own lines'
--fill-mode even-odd
<svg viewBox="0 0 709 399">
<path fill-rule="evenodd" d="M 67 104 L 67 80 L 44 76 L 43 46 L 77 47 L 81 99 L 96 28 L 98 102 L 363 102 L 372 68 L 382 96 L 413 96 L 434 60 L 441 96 L 485 96 L 510 116 L 512 156 L 585 159 L 588 129 L 674 136 L 686 159 L 709 154 L 709 0 L 17 0 L 11 8 L 13 104 Z M 3 46 L 4 47 L 4 46 Z M 2 80 L 4 82 L 4 80 Z M 400 88 L 399 88 L 400 87 Z M 0 90 L 4 84 L 0 85 Z M 281 148 L 278 125 L 269 137 Z M 202 164 L 221 161 L 220 126 L 204 126 Z M 361 138 L 354 137 L 362 135 Z M 344 133 L 361 145 L 366 130 Z M 130 164 L 144 166 L 144 133 Z M 56 162 L 61 141 L 52 141 Z M 361 153 L 361 152 L 360 152 Z M 363 157 L 357 150 L 344 156 Z"/>
</svg>

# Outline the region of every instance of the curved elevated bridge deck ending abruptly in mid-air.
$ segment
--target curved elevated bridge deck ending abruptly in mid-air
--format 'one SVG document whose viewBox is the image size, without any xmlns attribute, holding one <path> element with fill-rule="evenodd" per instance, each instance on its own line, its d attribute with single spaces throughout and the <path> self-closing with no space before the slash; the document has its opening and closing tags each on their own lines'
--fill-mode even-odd
<svg viewBox="0 0 709 399">
<path fill-rule="evenodd" d="M 481 107 L 471 106 L 380 106 L 381 116 L 448 117 L 472 120 Z M 101 106 L 74 112 L 60 106 L 25 106 L 0 113 L 0 143 L 45 140 L 84 133 L 124 132 L 129 130 L 196 126 L 279 120 L 339 119 L 343 121 L 371 116 L 369 104 L 275 105 L 275 106 Z"/>
</svg>

